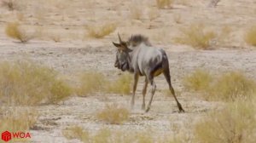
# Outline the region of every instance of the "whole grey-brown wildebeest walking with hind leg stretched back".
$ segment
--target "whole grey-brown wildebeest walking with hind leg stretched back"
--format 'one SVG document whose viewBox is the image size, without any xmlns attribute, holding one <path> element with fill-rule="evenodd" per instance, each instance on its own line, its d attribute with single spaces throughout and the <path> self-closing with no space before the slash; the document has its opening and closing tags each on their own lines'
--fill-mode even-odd
<svg viewBox="0 0 256 143">
<path fill-rule="evenodd" d="M 151 85 L 151 97 L 148 102 L 146 112 L 150 110 L 156 85 L 154 77 L 164 74 L 169 89 L 177 102 L 179 112 L 184 112 L 183 107 L 178 102 L 174 89 L 172 88 L 171 76 L 169 70 L 169 62 L 166 52 L 163 49 L 155 48 L 149 43 L 148 38 L 142 35 L 131 36 L 128 41 L 122 41 L 119 36 L 119 43 L 113 43 L 117 47 L 116 60 L 114 66 L 122 70 L 134 73 L 134 83 L 132 90 L 131 107 L 134 106 L 135 91 L 137 89 L 137 81 L 140 76 L 145 77 L 143 87 L 143 110 L 145 109 L 145 94 L 147 92 L 148 83 Z"/>
</svg>

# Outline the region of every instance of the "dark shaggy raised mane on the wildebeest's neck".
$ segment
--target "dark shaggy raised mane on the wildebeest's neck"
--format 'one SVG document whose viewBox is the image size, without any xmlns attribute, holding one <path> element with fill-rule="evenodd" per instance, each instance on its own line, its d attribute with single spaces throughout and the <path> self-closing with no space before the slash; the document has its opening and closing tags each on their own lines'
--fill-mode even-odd
<svg viewBox="0 0 256 143">
<path fill-rule="evenodd" d="M 128 40 L 128 45 L 131 47 L 136 47 L 137 45 L 144 43 L 147 46 L 152 46 L 151 43 L 148 41 L 148 37 L 144 37 L 143 35 L 134 35 L 131 36 Z"/>
</svg>

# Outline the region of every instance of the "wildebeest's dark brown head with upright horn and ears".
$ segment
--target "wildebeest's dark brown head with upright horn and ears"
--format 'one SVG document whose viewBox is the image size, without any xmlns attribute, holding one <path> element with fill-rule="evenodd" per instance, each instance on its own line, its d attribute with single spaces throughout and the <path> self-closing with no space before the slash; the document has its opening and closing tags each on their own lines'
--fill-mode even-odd
<svg viewBox="0 0 256 143">
<path fill-rule="evenodd" d="M 131 62 L 131 59 L 130 59 L 131 57 L 129 53 L 132 50 L 128 49 L 127 43 L 123 42 L 120 36 L 119 36 L 119 43 L 113 43 L 113 45 L 117 48 L 114 67 L 117 67 L 122 71 L 129 70 L 129 62 Z"/>
</svg>

